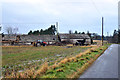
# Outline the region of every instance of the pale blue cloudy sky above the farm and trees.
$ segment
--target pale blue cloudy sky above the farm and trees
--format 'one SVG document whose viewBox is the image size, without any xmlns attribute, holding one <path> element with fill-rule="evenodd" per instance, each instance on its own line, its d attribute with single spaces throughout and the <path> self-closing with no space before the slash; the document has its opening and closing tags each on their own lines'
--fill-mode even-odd
<svg viewBox="0 0 120 80">
<path fill-rule="evenodd" d="M 30 30 L 47 29 L 59 23 L 59 33 L 91 32 L 104 35 L 118 29 L 119 0 L 0 0 L 2 32 L 6 27 L 17 27 L 18 34 Z"/>
</svg>

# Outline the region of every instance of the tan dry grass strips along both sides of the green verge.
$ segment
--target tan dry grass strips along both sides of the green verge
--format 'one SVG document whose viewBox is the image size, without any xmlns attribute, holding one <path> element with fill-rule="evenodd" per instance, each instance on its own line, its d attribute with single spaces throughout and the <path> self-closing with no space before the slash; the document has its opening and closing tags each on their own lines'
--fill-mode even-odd
<svg viewBox="0 0 120 80">
<path fill-rule="evenodd" d="M 75 57 L 66 57 L 63 60 L 61 60 L 58 64 L 57 64 L 57 62 L 55 62 L 54 65 L 48 66 L 48 63 L 45 62 L 45 64 L 42 65 L 41 68 L 39 68 L 38 70 L 34 70 L 33 69 L 33 70 L 26 70 L 24 73 L 23 72 L 22 73 L 17 73 L 17 74 L 12 73 L 12 75 L 8 76 L 7 78 L 11 78 L 11 77 L 16 77 L 16 78 L 37 78 L 37 77 L 40 77 L 40 76 L 44 75 L 47 72 L 47 70 L 49 70 L 49 69 L 55 70 L 57 67 L 61 67 L 62 64 L 66 64 L 68 62 L 78 62 L 78 60 L 80 60 L 80 61 L 85 60 L 81 56 L 82 55 L 86 55 L 86 54 L 90 54 L 91 52 L 96 51 L 96 49 L 98 47 L 99 46 L 96 46 L 96 47 L 93 47 L 91 49 L 88 49 L 85 52 L 76 55 Z M 103 48 L 100 48 L 100 49 L 103 50 Z M 68 75 L 67 78 L 76 78 L 76 77 L 79 77 L 79 75 L 81 75 L 101 54 L 95 55 L 94 59 L 90 58 L 90 60 L 87 61 L 84 65 L 82 65 L 81 68 L 77 69 L 77 72 L 74 72 L 73 74 Z M 78 58 L 80 58 L 80 59 L 78 59 Z M 63 69 L 57 69 L 56 71 L 57 72 L 64 72 Z"/>
</svg>

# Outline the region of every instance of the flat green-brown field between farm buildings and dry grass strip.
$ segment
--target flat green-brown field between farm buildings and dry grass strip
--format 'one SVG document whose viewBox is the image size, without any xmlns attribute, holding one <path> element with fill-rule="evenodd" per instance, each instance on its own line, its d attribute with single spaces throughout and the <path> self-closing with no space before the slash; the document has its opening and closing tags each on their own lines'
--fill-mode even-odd
<svg viewBox="0 0 120 80">
<path fill-rule="evenodd" d="M 3 76 L 12 72 L 24 72 L 25 70 L 39 69 L 43 63 L 48 66 L 60 62 L 66 57 L 73 57 L 84 52 L 90 47 L 74 46 L 46 46 L 46 47 L 2 47 L 2 71 Z"/>
</svg>

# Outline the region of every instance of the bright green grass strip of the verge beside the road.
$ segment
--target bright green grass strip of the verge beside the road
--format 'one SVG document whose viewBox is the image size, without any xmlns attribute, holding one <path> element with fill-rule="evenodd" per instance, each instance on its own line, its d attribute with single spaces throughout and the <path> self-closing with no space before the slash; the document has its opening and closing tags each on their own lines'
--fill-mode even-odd
<svg viewBox="0 0 120 80">
<path fill-rule="evenodd" d="M 74 61 L 67 62 L 66 64 L 61 64 L 61 66 L 57 67 L 56 69 L 50 69 L 43 76 L 41 76 L 41 78 L 69 78 L 70 77 L 69 75 L 72 75 L 73 73 L 78 72 L 82 66 L 84 67 L 84 64 L 88 63 L 88 61 L 90 61 L 91 59 L 96 60 L 97 59 L 96 55 L 100 56 L 104 52 L 104 50 L 107 48 L 107 46 L 108 45 L 99 47 L 95 51 L 90 52 L 91 53 L 90 55 L 86 54 L 81 56 L 80 58 L 77 58 L 76 62 Z M 84 60 L 80 60 L 81 58 Z M 85 67 L 87 68 L 89 65 L 90 63 Z M 61 71 L 57 71 L 58 69 L 60 69 Z"/>
</svg>

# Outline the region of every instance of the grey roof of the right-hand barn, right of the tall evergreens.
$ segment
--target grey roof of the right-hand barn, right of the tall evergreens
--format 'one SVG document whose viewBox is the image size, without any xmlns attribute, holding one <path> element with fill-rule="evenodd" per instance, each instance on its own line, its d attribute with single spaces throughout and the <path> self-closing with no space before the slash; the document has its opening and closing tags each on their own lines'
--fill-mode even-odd
<svg viewBox="0 0 120 80">
<path fill-rule="evenodd" d="M 90 39 L 87 34 L 59 34 L 61 39 Z"/>
</svg>

